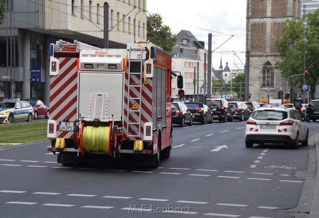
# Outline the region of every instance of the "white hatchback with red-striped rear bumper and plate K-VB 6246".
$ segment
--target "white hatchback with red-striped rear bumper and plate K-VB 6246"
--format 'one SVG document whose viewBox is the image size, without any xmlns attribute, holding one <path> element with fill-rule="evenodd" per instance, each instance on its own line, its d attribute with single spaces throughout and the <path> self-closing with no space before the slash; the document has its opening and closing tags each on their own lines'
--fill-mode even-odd
<svg viewBox="0 0 319 218">
<path fill-rule="evenodd" d="M 284 144 L 297 149 L 308 145 L 308 118 L 291 107 L 259 107 L 246 122 L 245 144 Z"/>
</svg>

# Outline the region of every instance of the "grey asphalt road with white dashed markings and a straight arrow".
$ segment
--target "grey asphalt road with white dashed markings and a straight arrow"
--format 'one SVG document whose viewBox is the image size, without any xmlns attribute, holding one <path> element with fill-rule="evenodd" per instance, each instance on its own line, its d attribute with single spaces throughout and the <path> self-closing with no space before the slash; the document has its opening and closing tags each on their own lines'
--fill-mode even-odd
<svg viewBox="0 0 319 218">
<path fill-rule="evenodd" d="M 66 167 L 48 141 L 2 148 L 0 217 L 294 217 L 305 183 L 296 172 L 313 144 L 246 148 L 245 124 L 174 126 L 157 169 L 122 159 Z M 319 122 L 307 124 L 311 138 Z"/>
</svg>

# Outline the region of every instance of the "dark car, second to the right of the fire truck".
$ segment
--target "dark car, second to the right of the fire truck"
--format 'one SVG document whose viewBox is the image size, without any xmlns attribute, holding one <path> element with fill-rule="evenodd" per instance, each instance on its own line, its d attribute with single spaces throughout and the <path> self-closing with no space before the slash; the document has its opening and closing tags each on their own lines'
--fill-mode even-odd
<svg viewBox="0 0 319 218">
<path fill-rule="evenodd" d="M 202 124 L 213 123 L 211 109 L 203 102 L 185 102 L 190 112 L 193 114 L 193 121 Z"/>
</svg>

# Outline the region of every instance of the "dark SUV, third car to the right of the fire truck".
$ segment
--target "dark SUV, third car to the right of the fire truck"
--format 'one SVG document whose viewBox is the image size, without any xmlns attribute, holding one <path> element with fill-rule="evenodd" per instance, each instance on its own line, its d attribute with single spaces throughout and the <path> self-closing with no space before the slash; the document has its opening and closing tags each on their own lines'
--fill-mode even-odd
<svg viewBox="0 0 319 218">
<path fill-rule="evenodd" d="M 233 122 L 233 110 L 232 105 L 228 104 L 228 101 L 224 98 L 208 98 L 205 101 L 205 104 L 211 108 L 213 117 L 217 118 L 219 121 L 226 123 Z"/>
</svg>

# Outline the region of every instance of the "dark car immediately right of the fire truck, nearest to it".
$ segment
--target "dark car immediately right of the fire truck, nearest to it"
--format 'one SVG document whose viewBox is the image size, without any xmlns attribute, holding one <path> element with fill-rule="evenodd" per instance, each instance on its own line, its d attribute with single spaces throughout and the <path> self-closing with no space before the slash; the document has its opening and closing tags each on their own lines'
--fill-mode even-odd
<svg viewBox="0 0 319 218">
<path fill-rule="evenodd" d="M 193 114 L 182 102 L 172 102 L 172 124 L 184 127 L 185 123 L 193 125 Z"/>
</svg>

